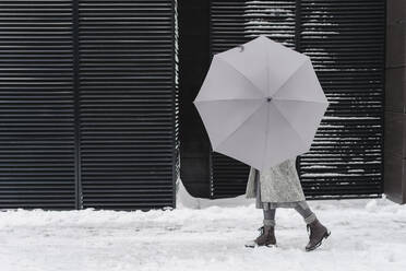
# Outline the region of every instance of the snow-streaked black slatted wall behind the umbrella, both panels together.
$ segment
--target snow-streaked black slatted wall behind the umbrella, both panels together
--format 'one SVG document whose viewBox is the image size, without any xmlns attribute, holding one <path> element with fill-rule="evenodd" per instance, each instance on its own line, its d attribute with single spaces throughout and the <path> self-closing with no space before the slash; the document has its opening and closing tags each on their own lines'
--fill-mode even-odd
<svg viewBox="0 0 406 271">
<path fill-rule="evenodd" d="M 259 34 L 311 57 L 331 106 L 298 163 L 308 198 L 382 193 L 383 0 L 211 2 L 212 54 Z M 241 195 L 248 166 L 212 153 L 212 198 Z"/>
</svg>

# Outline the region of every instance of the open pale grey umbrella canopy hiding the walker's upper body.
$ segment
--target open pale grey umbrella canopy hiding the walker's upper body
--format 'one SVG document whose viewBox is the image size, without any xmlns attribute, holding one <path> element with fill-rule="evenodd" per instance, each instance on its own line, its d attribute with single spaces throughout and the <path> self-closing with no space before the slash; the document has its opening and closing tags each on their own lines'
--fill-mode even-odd
<svg viewBox="0 0 406 271">
<path fill-rule="evenodd" d="M 310 58 L 265 36 L 214 55 L 193 104 L 213 150 L 259 170 L 308 152 L 329 106 Z"/>
</svg>

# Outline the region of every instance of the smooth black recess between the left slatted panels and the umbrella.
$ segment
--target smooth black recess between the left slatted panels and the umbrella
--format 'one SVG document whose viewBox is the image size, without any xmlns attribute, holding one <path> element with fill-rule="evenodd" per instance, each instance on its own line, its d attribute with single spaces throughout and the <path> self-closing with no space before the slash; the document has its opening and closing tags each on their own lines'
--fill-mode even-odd
<svg viewBox="0 0 406 271">
<path fill-rule="evenodd" d="M 210 141 L 192 104 L 210 64 L 208 4 L 178 0 L 180 177 L 194 197 L 210 195 Z"/>
</svg>

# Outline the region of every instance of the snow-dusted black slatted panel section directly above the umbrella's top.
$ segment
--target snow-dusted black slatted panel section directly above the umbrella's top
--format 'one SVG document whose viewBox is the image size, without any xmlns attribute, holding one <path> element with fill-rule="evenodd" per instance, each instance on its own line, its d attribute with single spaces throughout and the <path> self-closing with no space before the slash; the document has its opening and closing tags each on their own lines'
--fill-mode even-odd
<svg viewBox="0 0 406 271">
<path fill-rule="evenodd" d="M 264 34 L 295 46 L 295 0 L 211 2 L 212 54 L 227 50 Z"/>
</svg>

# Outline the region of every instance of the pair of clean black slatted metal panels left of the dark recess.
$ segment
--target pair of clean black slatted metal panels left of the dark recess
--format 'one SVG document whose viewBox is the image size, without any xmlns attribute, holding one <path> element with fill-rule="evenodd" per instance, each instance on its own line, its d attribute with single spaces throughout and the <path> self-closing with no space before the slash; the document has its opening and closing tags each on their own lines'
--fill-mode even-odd
<svg viewBox="0 0 406 271">
<path fill-rule="evenodd" d="M 0 1 L 0 208 L 175 207 L 175 9 Z"/>
</svg>

